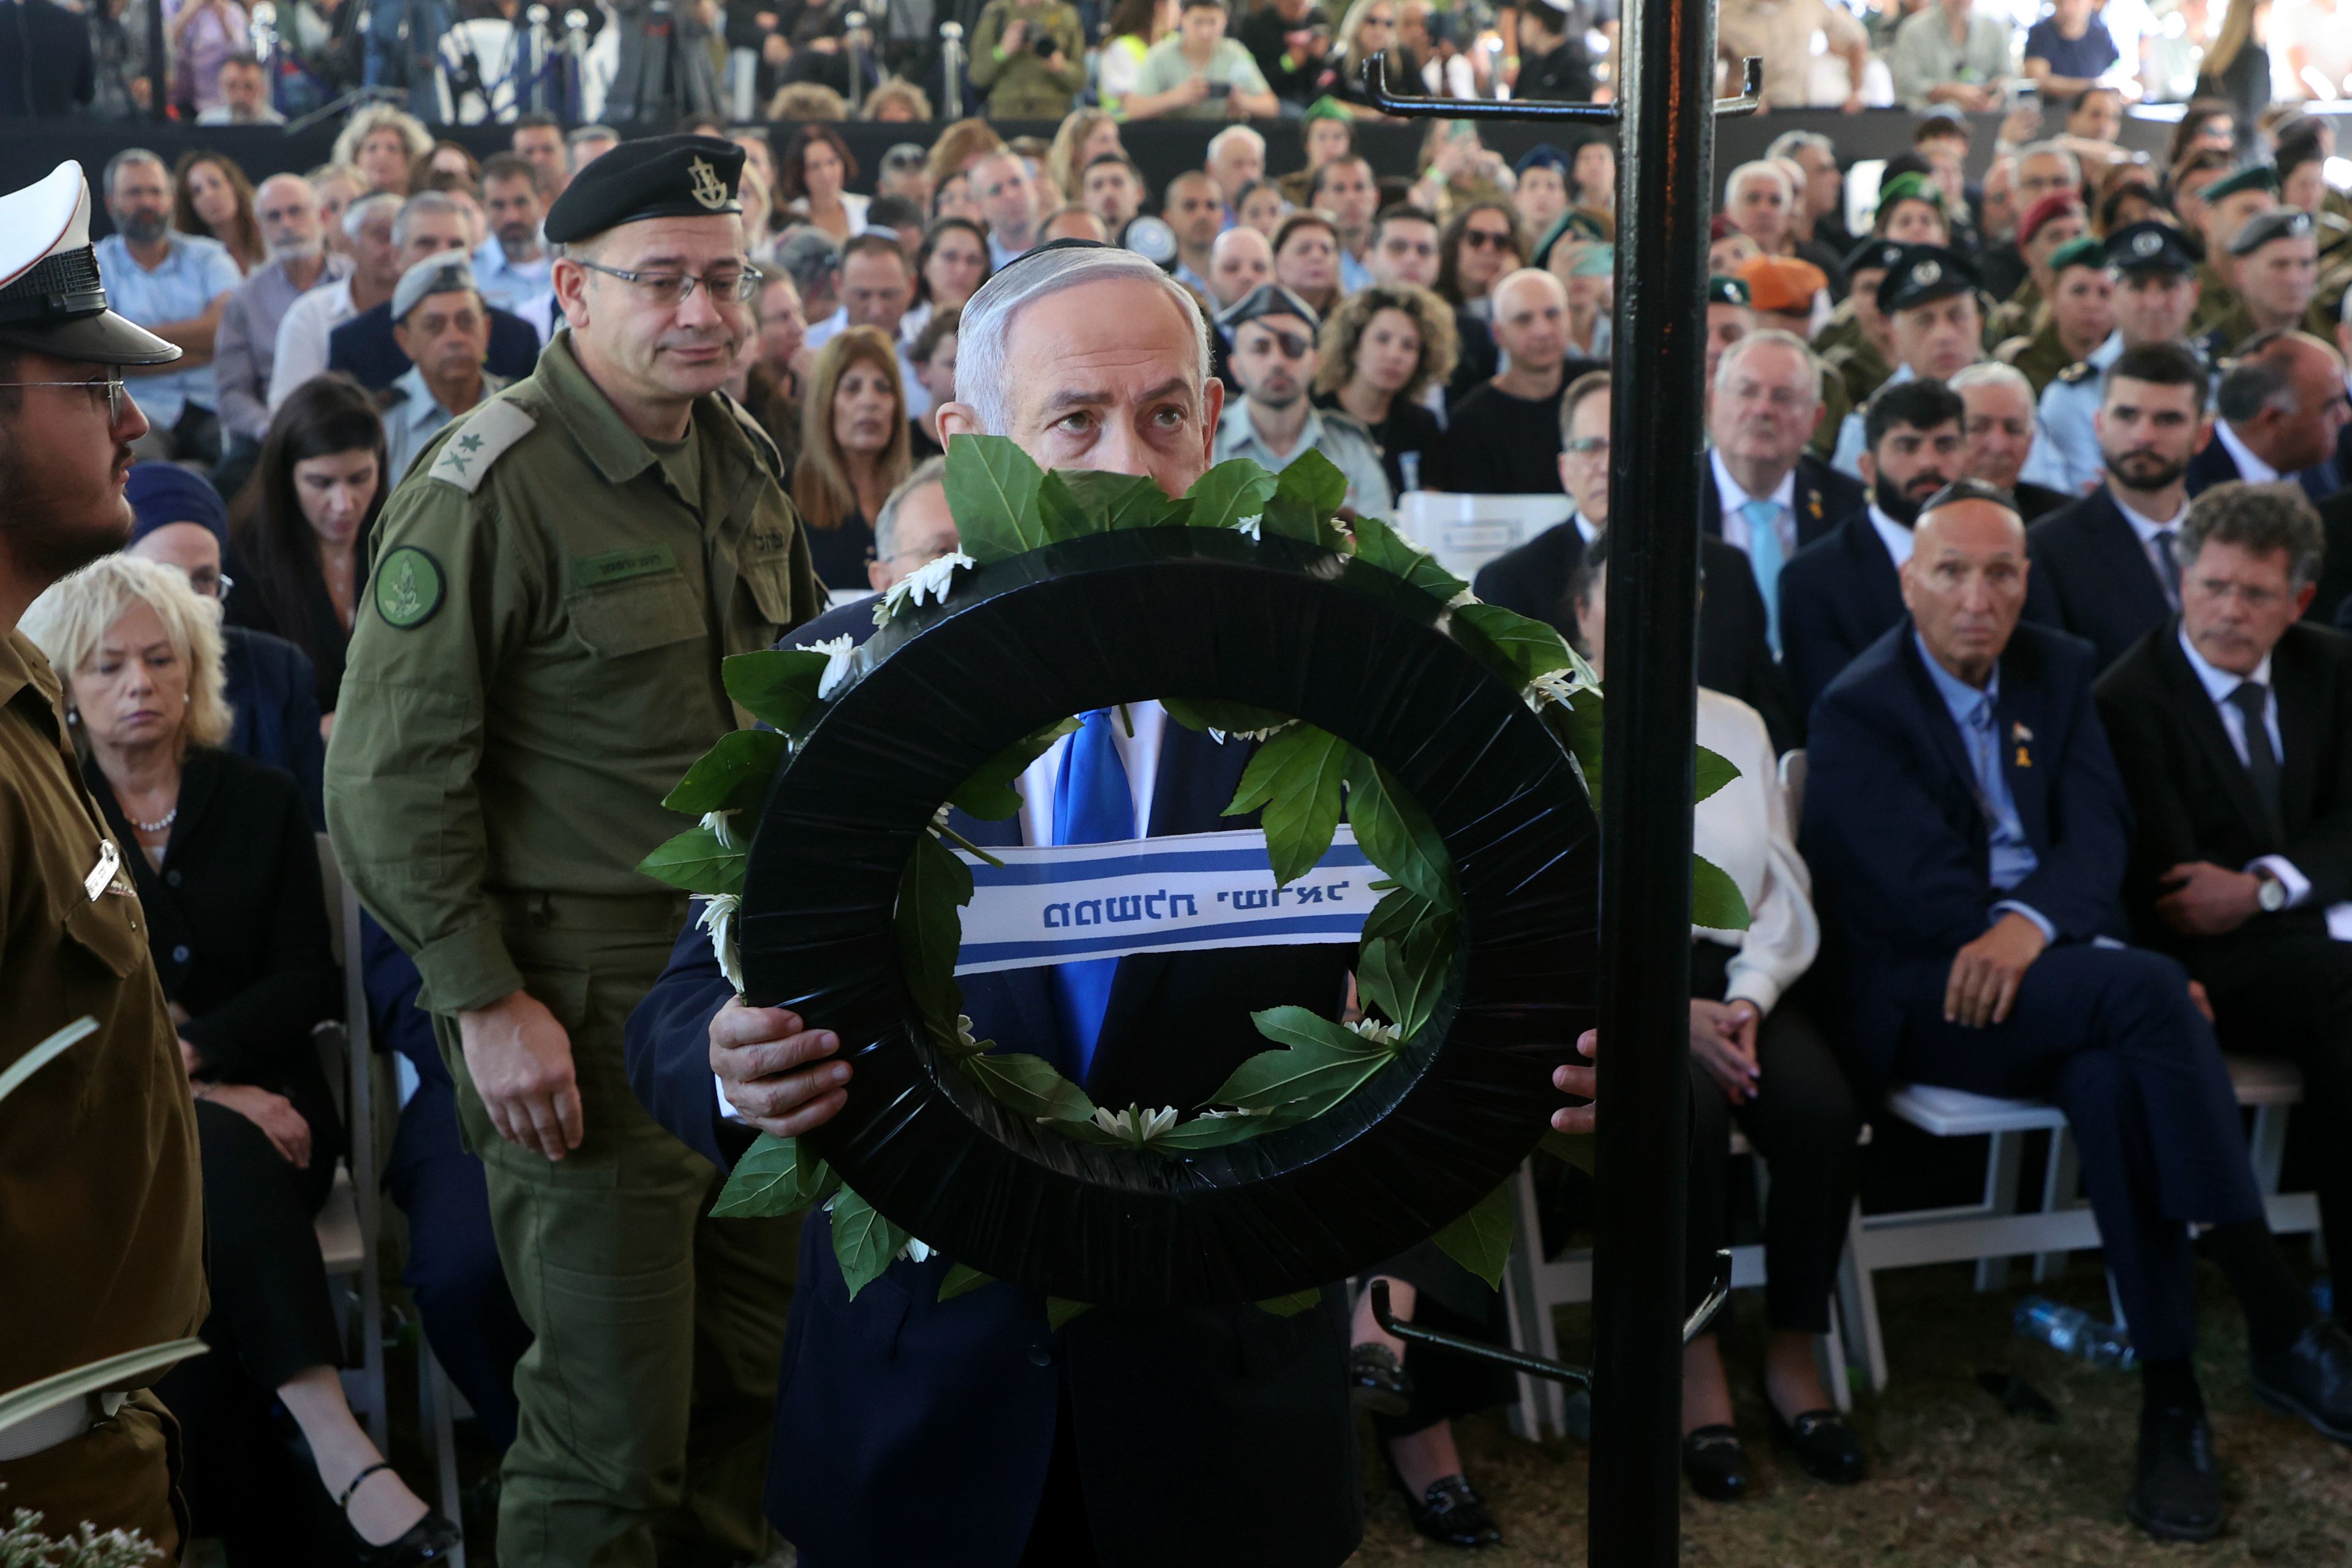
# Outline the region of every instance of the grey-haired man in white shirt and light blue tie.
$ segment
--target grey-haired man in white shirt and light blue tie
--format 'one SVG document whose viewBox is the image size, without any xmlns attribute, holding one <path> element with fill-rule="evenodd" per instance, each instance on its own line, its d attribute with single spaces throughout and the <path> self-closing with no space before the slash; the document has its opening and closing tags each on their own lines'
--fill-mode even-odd
<svg viewBox="0 0 2352 1568">
<path fill-rule="evenodd" d="M 1708 400 L 1708 477 L 1698 527 L 1748 552 L 1773 658 L 1780 569 L 1867 505 L 1863 487 L 1806 444 L 1820 428 L 1820 357 L 1792 331 L 1750 331 L 1715 362 Z"/>
</svg>

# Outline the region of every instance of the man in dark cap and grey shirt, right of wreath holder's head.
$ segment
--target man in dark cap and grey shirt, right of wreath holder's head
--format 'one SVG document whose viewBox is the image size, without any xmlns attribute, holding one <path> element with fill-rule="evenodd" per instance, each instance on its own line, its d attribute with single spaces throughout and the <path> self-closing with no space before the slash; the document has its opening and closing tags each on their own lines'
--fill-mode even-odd
<svg viewBox="0 0 2352 1568">
<path fill-rule="evenodd" d="M 1282 473 L 1315 449 L 1348 475 L 1350 508 L 1385 517 L 1392 498 L 1371 430 L 1338 409 L 1308 402 L 1319 364 L 1315 331 L 1322 322 L 1315 308 L 1279 282 L 1263 282 L 1216 324 L 1232 343 L 1225 369 L 1242 383 L 1242 397 L 1216 423 L 1216 461 L 1254 458 Z"/>
</svg>

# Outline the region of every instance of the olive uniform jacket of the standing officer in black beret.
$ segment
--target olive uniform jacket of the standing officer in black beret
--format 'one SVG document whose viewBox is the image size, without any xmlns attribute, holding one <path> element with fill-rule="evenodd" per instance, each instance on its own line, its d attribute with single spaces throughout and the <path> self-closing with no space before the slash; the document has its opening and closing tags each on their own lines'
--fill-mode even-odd
<svg viewBox="0 0 2352 1568">
<path fill-rule="evenodd" d="M 327 748 L 327 825 L 416 957 L 421 1001 L 522 987 L 501 914 L 529 903 L 675 929 L 637 860 L 689 823 L 661 797 L 724 731 L 720 661 L 823 609 L 781 463 L 720 395 L 684 442 L 635 435 L 557 331 L 393 491 Z M 586 900 L 604 900 L 588 905 Z M 656 907 L 666 905 L 666 907 Z"/>
</svg>

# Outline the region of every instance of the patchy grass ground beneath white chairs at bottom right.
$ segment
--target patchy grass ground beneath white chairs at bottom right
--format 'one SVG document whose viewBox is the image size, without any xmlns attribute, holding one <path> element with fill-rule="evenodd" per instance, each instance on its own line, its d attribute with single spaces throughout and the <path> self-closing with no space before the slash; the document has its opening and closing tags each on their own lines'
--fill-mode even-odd
<svg viewBox="0 0 2352 1568">
<path fill-rule="evenodd" d="M 2025 1272 L 2016 1269 L 2013 1279 L 2023 1288 Z M 1976 1295 L 1969 1286 L 1964 1265 L 1882 1276 L 1891 1382 L 1884 1399 L 1856 1406 L 1872 1476 L 1853 1488 L 1820 1486 L 1771 1450 L 1755 1389 L 1757 1305 L 1738 1302 L 1743 1321 L 1729 1331 L 1726 1361 L 1757 1495 L 1708 1505 L 1684 1493 L 1682 1561 L 1698 1568 L 2352 1568 L 2352 1450 L 2253 1401 L 2241 1319 L 2211 1269 L 2201 1276 L 2199 1378 L 2213 1413 L 2230 1523 L 2206 1547 L 2161 1547 L 2124 1519 L 2138 1375 L 2100 1371 L 2016 1338 L 2009 1309 L 2018 1291 Z M 2077 1260 L 2049 1293 L 2105 1312 L 2096 1260 Z M 1564 1347 L 1590 1342 L 1583 1309 L 1562 1312 L 1559 1328 Z M 2058 1422 L 2009 1415 L 1978 1387 L 1980 1371 L 2025 1378 L 2058 1408 Z M 1367 1465 L 1371 1507 L 1355 1559 L 1359 1568 L 1449 1559 L 1477 1568 L 1585 1563 L 1583 1443 L 1522 1443 L 1501 1418 L 1463 1422 L 1461 1443 L 1472 1481 L 1503 1526 L 1503 1547 L 1472 1556 L 1421 1540 L 1404 1502 Z"/>
</svg>

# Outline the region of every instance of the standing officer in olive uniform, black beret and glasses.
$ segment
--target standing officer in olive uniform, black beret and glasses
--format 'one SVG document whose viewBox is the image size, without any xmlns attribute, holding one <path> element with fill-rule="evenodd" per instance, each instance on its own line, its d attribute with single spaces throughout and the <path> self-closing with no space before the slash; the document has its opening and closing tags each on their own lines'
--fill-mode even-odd
<svg viewBox="0 0 2352 1568">
<path fill-rule="evenodd" d="M 720 658 L 823 607 L 781 463 L 717 388 L 760 273 L 713 136 L 630 141 L 548 209 L 567 327 L 376 524 L 327 752 L 343 872 L 423 976 L 536 1342 L 499 1561 L 757 1561 L 795 1227 L 637 1107 L 621 1025 L 684 896 L 637 872 L 748 724 Z"/>
</svg>

